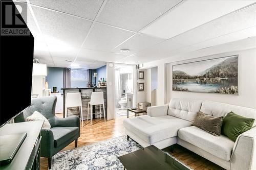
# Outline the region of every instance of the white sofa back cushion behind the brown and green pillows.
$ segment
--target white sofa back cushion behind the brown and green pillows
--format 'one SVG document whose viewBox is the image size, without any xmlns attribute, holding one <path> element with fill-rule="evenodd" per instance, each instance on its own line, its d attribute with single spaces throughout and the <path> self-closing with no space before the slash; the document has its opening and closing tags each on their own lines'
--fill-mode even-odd
<svg viewBox="0 0 256 170">
<path fill-rule="evenodd" d="M 215 117 L 220 117 L 220 116 L 225 117 L 229 112 L 233 112 L 240 116 L 256 119 L 255 109 L 229 105 L 226 103 L 203 101 L 200 111 Z M 254 121 L 254 124 L 252 125 L 252 127 L 254 126 L 256 126 L 256 121 Z"/>
</svg>

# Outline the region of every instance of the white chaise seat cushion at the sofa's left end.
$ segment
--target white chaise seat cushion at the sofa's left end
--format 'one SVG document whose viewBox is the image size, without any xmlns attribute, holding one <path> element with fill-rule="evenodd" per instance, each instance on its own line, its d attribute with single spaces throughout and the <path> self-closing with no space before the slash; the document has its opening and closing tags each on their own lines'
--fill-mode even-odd
<svg viewBox="0 0 256 170">
<path fill-rule="evenodd" d="M 133 132 L 150 144 L 176 137 L 180 128 L 191 126 L 191 124 L 187 120 L 169 115 L 157 117 L 142 115 L 127 118 L 123 121 L 125 129 Z"/>
</svg>

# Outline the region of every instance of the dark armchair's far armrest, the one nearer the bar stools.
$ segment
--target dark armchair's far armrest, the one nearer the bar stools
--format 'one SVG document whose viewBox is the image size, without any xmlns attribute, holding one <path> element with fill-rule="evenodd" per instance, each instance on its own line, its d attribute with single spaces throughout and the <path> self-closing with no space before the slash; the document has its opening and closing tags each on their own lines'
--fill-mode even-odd
<svg viewBox="0 0 256 170">
<path fill-rule="evenodd" d="M 56 127 L 78 127 L 80 128 L 80 120 L 78 116 L 69 116 L 66 118 L 55 117 Z"/>
</svg>

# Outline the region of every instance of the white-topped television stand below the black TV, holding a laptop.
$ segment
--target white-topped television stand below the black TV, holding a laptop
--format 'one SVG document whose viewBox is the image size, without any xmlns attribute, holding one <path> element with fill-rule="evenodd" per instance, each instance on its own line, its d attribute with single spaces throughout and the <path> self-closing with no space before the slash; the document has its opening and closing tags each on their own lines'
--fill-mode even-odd
<svg viewBox="0 0 256 170">
<path fill-rule="evenodd" d="M 20 141 L 23 140 L 23 142 L 20 144 L 19 149 L 17 149 L 17 152 L 13 156 L 11 161 L 9 160 L 4 162 L 7 164 L 2 164 L 2 161 L 1 161 L 1 165 L 0 165 L 1 170 L 40 169 L 40 141 L 41 141 L 40 132 L 41 132 L 42 124 L 44 124 L 44 120 L 22 122 L 22 123 L 15 123 L 15 124 L 6 124 L 5 126 L 0 128 L 0 135 L 1 137 L 3 137 L 4 141 L 13 142 L 12 140 L 14 140 L 14 136 L 18 134 L 20 135 L 20 138 L 19 138 Z M 24 135 L 27 134 L 27 136 L 24 137 L 22 134 Z M 2 138 L 0 138 L 0 140 L 2 140 Z M 19 142 L 17 141 L 17 143 Z M 5 157 L 2 151 L 0 151 L 0 157 L 1 158 Z M 8 160 L 8 158 L 4 160 Z"/>
</svg>

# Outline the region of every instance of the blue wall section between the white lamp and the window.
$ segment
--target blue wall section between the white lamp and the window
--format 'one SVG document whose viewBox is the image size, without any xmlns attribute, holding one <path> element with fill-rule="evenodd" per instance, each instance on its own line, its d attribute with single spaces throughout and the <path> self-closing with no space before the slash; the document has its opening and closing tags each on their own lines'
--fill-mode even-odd
<svg viewBox="0 0 256 170">
<path fill-rule="evenodd" d="M 48 88 L 53 91 L 52 87 L 57 87 L 57 91 L 62 93 L 64 69 L 60 67 L 47 67 L 46 80 L 48 82 Z"/>
</svg>

